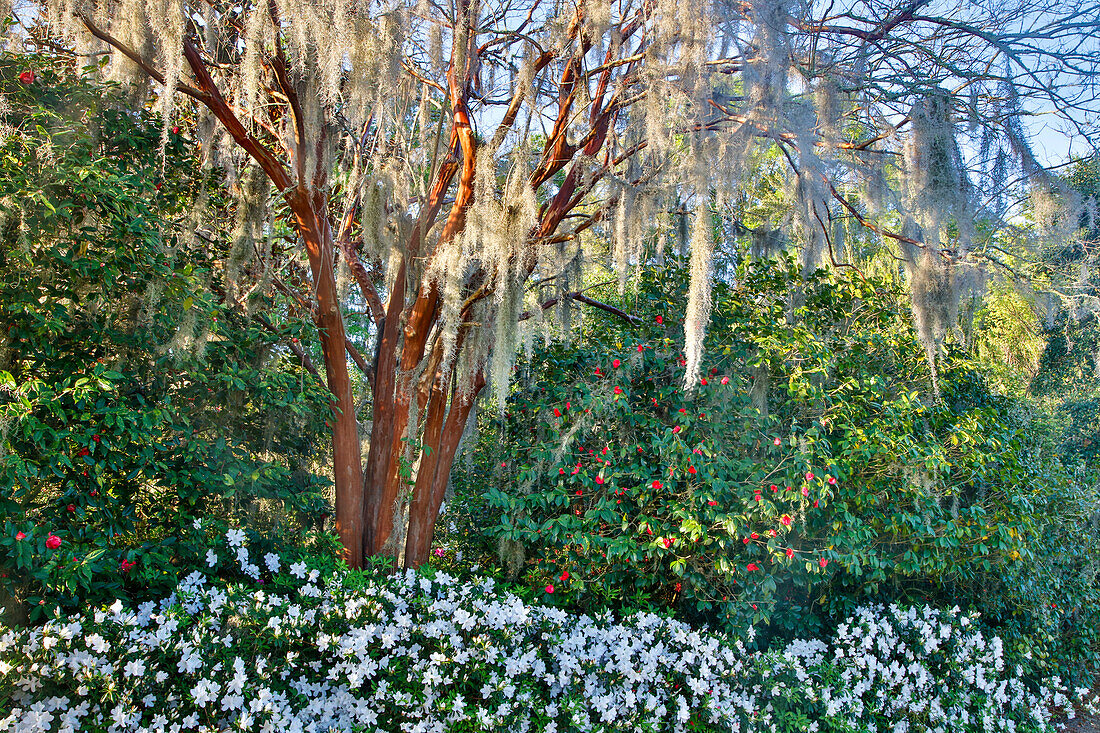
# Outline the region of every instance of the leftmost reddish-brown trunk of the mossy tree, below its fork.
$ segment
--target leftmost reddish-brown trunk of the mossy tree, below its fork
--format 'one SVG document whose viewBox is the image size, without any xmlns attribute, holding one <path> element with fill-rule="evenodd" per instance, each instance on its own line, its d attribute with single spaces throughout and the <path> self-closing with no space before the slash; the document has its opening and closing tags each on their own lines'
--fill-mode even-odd
<svg viewBox="0 0 1100 733">
<path fill-rule="evenodd" d="M 314 322 L 321 339 L 324 357 L 324 379 L 332 394 L 332 478 L 336 484 L 337 533 L 344 547 L 349 567 L 363 566 L 363 471 L 360 452 L 359 424 L 352 397 L 348 358 L 344 352 L 346 333 L 333 271 L 332 229 L 329 226 L 327 201 L 316 194 L 309 197 L 301 189 L 287 193 L 287 201 L 298 222 L 298 231 L 309 253 L 314 275 L 317 309 Z"/>
</svg>

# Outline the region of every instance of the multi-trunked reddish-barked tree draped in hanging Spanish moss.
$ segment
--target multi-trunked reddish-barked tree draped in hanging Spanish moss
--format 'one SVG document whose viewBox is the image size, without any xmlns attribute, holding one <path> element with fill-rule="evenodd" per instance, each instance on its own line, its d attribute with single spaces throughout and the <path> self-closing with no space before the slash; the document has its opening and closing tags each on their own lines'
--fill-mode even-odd
<svg viewBox="0 0 1100 733">
<path fill-rule="evenodd" d="M 695 382 L 711 214 L 761 146 L 781 152 L 794 203 L 772 229 L 807 267 L 842 260 L 853 223 L 898 247 L 933 353 L 955 273 L 989 254 L 975 211 L 998 182 L 1044 180 L 1019 117 L 1085 120 L 1098 32 L 1094 6 L 1038 0 L 50 0 L 34 18 L 107 53 L 166 130 L 194 114 L 208 158 L 260 182 L 238 187 L 254 232 L 290 225 L 352 566 L 426 559 L 477 395 L 505 393 L 525 332 L 608 308 L 586 265 L 625 282 L 678 210 Z M 349 348 L 351 308 L 372 358 Z M 349 357 L 371 390 L 365 466 Z"/>
</svg>

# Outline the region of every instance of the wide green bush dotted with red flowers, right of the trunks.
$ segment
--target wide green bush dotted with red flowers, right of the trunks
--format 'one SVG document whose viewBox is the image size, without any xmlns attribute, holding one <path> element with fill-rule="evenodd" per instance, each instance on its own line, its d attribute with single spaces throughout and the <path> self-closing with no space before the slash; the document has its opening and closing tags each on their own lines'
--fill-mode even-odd
<svg viewBox="0 0 1100 733">
<path fill-rule="evenodd" d="M 904 293 L 791 261 L 716 285 L 686 390 L 685 280 L 642 275 L 624 304 L 642 325 L 588 314 L 536 349 L 485 431 L 512 447 L 484 486 L 493 533 L 543 601 L 791 634 L 870 598 L 1012 597 L 1001 578 L 1041 560 L 1078 485 L 1020 404 L 958 354 L 937 401 Z"/>
</svg>

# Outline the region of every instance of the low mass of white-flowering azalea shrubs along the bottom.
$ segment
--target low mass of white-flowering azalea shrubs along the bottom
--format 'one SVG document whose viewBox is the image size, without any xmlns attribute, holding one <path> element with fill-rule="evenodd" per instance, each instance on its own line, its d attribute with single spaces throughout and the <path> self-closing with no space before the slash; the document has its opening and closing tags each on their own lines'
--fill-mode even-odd
<svg viewBox="0 0 1100 733">
<path fill-rule="evenodd" d="M 957 612 L 861 609 L 832 644 L 761 654 L 653 614 L 529 606 L 488 579 L 322 582 L 293 562 L 274 587 L 196 571 L 136 612 L 4 632 L 0 732 L 1042 731 L 1065 702 L 1056 680 L 1028 692 Z"/>
</svg>

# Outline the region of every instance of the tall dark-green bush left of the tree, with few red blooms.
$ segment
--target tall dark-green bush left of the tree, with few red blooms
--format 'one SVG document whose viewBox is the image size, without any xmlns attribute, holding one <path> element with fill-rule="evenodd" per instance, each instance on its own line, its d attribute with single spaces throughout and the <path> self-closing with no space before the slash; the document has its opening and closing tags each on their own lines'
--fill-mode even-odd
<svg viewBox="0 0 1100 733">
<path fill-rule="evenodd" d="M 3 57 L 0 85 L 9 592 L 33 619 L 148 598 L 198 559 L 180 534 L 196 516 L 317 524 L 326 394 L 278 346 L 295 325 L 216 302 L 231 211 L 208 209 L 201 231 L 220 241 L 185 233 L 210 174 L 184 133 L 162 141 L 157 118 L 55 58 Z"/>
</svg>

